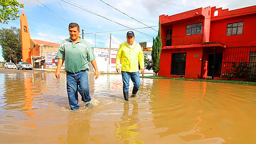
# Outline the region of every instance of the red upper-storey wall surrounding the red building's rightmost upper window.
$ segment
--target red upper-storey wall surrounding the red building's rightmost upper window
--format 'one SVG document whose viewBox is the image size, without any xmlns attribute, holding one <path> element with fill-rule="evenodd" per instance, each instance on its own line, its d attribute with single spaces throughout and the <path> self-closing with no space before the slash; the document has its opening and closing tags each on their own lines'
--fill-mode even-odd
<svg viewBox="0 0 256 144">
<path fill-rule="evenodd" d="M 242 35 L 227 36 L 227 23 L 244 22 Z M 253 46 L 256 45 L 256 15 L 244 15 L 211 22 L 210 41 L 220 42 L 228 47 L 233 46 Z"/>
</svg>

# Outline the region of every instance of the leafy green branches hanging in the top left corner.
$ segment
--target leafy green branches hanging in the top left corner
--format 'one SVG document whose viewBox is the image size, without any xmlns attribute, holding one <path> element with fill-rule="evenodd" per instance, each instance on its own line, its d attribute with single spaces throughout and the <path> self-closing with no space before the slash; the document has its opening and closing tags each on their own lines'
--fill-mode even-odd
<svg viewBox="0 0 256 144">
<path fill-rule="evenodd" d="M 0 0 L 0 22 L 7 24 L 19 18 L 19 7 L 23 8 L 24 5 L 15 0 Z"/>
</svg>

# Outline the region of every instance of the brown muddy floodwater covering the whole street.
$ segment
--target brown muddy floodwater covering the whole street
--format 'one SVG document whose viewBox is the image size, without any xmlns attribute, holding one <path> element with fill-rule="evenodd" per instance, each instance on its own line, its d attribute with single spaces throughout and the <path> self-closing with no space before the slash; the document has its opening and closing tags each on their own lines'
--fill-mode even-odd
<svg viewBox="0 0 256 144">
<path fill-rule="evenodd" d="M 126 102 L 121 75 L 89 79 L 71 111 L 65 73 L 0 74 L 0 143 L 256 143 L 254 85 L 141 78 Z"/>
</svg>

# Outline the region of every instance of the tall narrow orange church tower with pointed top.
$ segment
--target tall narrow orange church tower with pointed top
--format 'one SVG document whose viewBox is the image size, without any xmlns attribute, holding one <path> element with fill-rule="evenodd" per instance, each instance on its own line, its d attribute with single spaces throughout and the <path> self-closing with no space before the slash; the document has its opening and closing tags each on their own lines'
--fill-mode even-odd
<svg viewBox="0 0 256 144">
<path fill-rule="evenodd" d="M 31 52 L 30 52 L 30 33 L 28 28 L 27 16 L 22 10 L 20 15 L 20 35 L 21 35 L 21 52 L 22 61 L 29 62 L 31 64 Z"/>
</svg>

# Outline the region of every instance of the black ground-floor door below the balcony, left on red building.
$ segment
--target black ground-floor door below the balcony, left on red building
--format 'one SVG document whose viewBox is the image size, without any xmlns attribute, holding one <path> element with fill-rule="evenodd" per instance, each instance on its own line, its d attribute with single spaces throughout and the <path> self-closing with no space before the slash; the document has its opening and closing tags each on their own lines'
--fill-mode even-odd
<svg viewBox="0 0 256 144">
<path fill-rule="evenodd" d="M 171 75 L 185 75 L 186 53 L 172 53 Z"/>
</svg>

